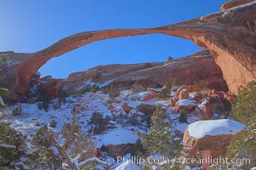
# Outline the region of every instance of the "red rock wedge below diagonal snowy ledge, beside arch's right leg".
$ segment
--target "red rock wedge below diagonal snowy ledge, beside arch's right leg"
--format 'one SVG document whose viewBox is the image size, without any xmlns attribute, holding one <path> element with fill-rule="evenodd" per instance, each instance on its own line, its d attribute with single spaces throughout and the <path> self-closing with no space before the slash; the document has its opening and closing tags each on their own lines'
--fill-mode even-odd
<svg viewBox="0 0 256 170">
<path fill-rule="evenodd" d="M 212 54 L 202 50 L 185 58 L 174 59 L 168 64 L 135 71 L 118 77 L 112 83 L 149 82 L 164 85 L 172 82 L 193 84 L 203 82 L 208 88 L 227 90 L 225 80 Z"/>
</svg>

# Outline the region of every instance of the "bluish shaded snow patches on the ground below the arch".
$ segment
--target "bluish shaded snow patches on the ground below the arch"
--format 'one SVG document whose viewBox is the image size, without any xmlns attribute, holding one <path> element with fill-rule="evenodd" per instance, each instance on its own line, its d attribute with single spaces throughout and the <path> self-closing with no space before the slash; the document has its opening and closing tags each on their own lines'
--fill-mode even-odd
<svg viewBox="0 0 256 170">
<path fill-rule="evenodd" d="M 29 137 L 26 144 L 27 148 L 31 150 L 33 150 L 32 144 L 30 142 L 32 134 L 36 133 L 38 128 L 43 127 L 43 125 L 48 125 L 49 127 L 50 122 L 53 120 L 57 122 L 57 127 L 52 127 L 52 129 L 54 132 L 60 133 L 64 123 L 72 122 L 71 109 L 74 107 L 74 105 L 77 105 L 79 108 L 79 112 L 77 113 L 77 120 L 80 123 L 82 132 L 86 134 L 89 133 L 89 130 L 91 129 L 91 127 L 88 126 L 88 121 L 94 112 L 100 112 L 102 116 L 113 117 L 113 115 L 117 116 L 117 114 L 121 113 L 123 116 L 127 116 L 125 119 L 121 118 L 121 120 L 111 120 L 111 129 L 106 130 L 100 135 L 94 136 L 94 142 L 97 144 L 97 148 L 100 148 L 103 144 L 135 144 L 137 139 L 139 139 L 136 132 L 147 132 L 147 124 L 140 123 L 134 126 L 128 122 L 128 116 L 136 114 L 139 116 L 139 120 L 140 116 L 144 115 L 144 113 L 136 110 L 138 105 L 162 105 L 164 109 L 167 109 L 166 111 L 169 115 L 169 118 L 174 120 L 173 132 L 175 130 L 179 130 L 181 133 L 183 133 L 185 127 L 187 127 L 188 124 L 179 122 L 180 115 L 177 113 L 174 114 L 175 109 L 174 107 L 169 106 L 169 99 L 151 99 L 149 101 L 141 101 L 141 99 L 145 98 L 146 94 L 150 93 L 151 92 L 141 92 L 138 94 L 132 94 L 131 90 L 122 90 L 121 95 L 114 100 L 111 99 L 108 94 L 103 94 L 101 92 L 94 94 L 85 93 L 82 95 L 68 97 L 65 99 L 66 102 L 62 102 L 61 105 L 59 105 L 58 99 L 53 99 L 50 101 L 48 111 L 39 110 L 38 103 L 21 103 L 9 106 L 4 111 L 4 113 L 7 114 L 7 118 L 3 121 L 10 122 L 11 127 L 14 127 L 16 130 L 25 133 L 26 136 Z M 109 101 L 111 101 L 111 103 Z M 125 103 L 134 108 L 129 112 L 129 114 L 122 111 L 122 105 Z M 190 99 L 180 100 L 179 103 L 181 103 L 181 105 L 197 105 L 196 101 Z M 22 108 L 22 114 L 21 116 L 14 116 L 12 111 L 18 105 L 20 105 Z M 196 116 L 188 115 L 187 122 L 191 123 L 195 121 Z M 60 144 L 63 143 L 63 141 L 64 139 L 62 139 L 60 136 Z M 117 166 L 119 166 L 119 164 Z M 117 169 L 136 169 L 136 167 L 133 166 L 135 165 L 124 162 L 122 165 L 117 167 Z"/>
</svg>

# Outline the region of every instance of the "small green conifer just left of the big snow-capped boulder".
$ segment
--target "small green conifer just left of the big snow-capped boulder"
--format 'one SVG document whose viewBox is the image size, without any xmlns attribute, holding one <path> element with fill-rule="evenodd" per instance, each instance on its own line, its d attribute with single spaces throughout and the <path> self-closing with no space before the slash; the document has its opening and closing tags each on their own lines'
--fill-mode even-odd
<svg viewBox="0 0 256 170">
<path fill-rule="evenodd" d="M 175 139 L 175 136 L 172 134 L 171 124 L 172 121 L 167 119 L 165 111 L 162 110 L 162 106 L 158 105 L 152 116 L 150 132 L 145 134 L 139 133 L 139 136 L 143 138 L 143 147 L 149 150 L 151 156 L 154 156 L 156 153 L 168 159 L 179 156 L 181 144 L 180 140 Z M 170 164 L 163 166 L 169 168 Z M 162 168 L 164 169 L 165 167 Z"/>
</svg>

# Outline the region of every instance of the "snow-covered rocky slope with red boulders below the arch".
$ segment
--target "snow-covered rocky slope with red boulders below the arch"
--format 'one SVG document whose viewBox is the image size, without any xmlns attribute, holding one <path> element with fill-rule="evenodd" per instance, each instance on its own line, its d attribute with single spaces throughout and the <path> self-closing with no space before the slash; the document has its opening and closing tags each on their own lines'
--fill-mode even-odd
<svg viewBox="0 0 256 170">
<path fill-rule="evenodd" d="M 72 94 L 69 97 L 47 102 L 43 100 L 30 104 L 16 103 L 7 107 L 6 110 L 0 111 L 0 122 L 9 122 L 10 127 L 26 134 L 26 153 L 22 155 L 22 159 L 14 161 L 13 165 L 19 167 L 22 162 L 22 165 L 28 167 L 24 169 L 40 167 L 40 163 L 44 161 L 41 160 L 43 156 L 38 156 L 41 152 L 34 144 L 35 133 L 44 125 L 53 129 L 56 134 L 63 132 L 61 129 L 65 123 L 72 122 L 71 110 L 74 106 L 77 109 L 77 123 L 82 132 L 87 136 L 93 135 L 92 139 L 97 149 L 94 150 L 95 155 L 102 161 L 111 161 L 111 169 L 122 167 L 120 162 L 117 162 L 117 156 L 128 156 L 134 150 L 134 145 L 139 139 L 136 132 L 149 132 L 153 111 L 156 110 L 157 105 L 162 105 L 166 119 L 172 121 L 172 135 L 179 141 L 183 139 L 186 144 L 185 149 L 191 148 L 189 156 L 194 157 L 197 151 L 203 157 L 213 156 L 214 158 L 225 153 L 222 149 L 230 144 L 232 134 L 241 128 L 230 132 L 230 129 L 236 129 L 232 123 L 228 128 L 223 129 L 219 127 L 219 121 L 211 120 L 209 121 L 211 123 L 204 121 L 206 122 L 204 124 L 196 121 L 227 118 L 230 94 L 206 88 L 196 89 L 195 85 L 174 86 L 166 91 L 168 97 L 160 99 L 158 96 L 162 90 L 163 88 L 149 88 L 135 93 L 134 89 L 126 89 L 121 90 L 120 95 L 115 98 L 98 90 L 96 93 Z M 150 99 L 149 96 L 151 96 Z M 172 98 L 176 99 L 174 105 L 171 105 Z M 218 105 L 217 109 L 214 107 L 216 105 Z M 17 108 L 20 108 L 19 111 Z M 98 121 L 91 123 L 95 119 L 93 119 L 95 113 L 99 113 L 102 118 L 96 117 Z M 100 124 L 103 121 L 105 121 L 104 125 Z M 230 121 L 226 120 L 226 122 Z M 220 124 L 225 126 L 225 122 Z M 185 130 L 186 127 L 188 130 Z M 219 133 L 225 135 L 219 135 Z M 201 136 L 198 137 L 198 135 Z M 64 138 L 59 134 L 60 142 L 63 142 Z M 0 150 L 9 146 L 8 144 L 0 144 Z M 31 161 L 31 154 L 37 155 L 36 162 Z M 1 159 L 3 158 L 0 157 Z M 45 167 L 45 169 L 48 168 Z M 97 169 L 104 169 L 104 167 Z"/>
</svg>

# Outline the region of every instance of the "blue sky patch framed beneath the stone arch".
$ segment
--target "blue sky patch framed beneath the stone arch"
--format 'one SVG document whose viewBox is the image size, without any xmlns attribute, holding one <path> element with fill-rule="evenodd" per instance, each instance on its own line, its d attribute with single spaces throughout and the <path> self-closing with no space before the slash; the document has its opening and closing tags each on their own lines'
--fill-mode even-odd
<svg viewBox="0 0 256 170">
<path fill-rule="evenodd" d="M 194 42 L 164 34 L 117 37 L 77 48 L 61 57 L 50 59 L 39 72 L 41 77 L 65 78 L 97 65 L 136 64 L 166 61 L 196 53 L 201 48 Z"/>
</svg>

